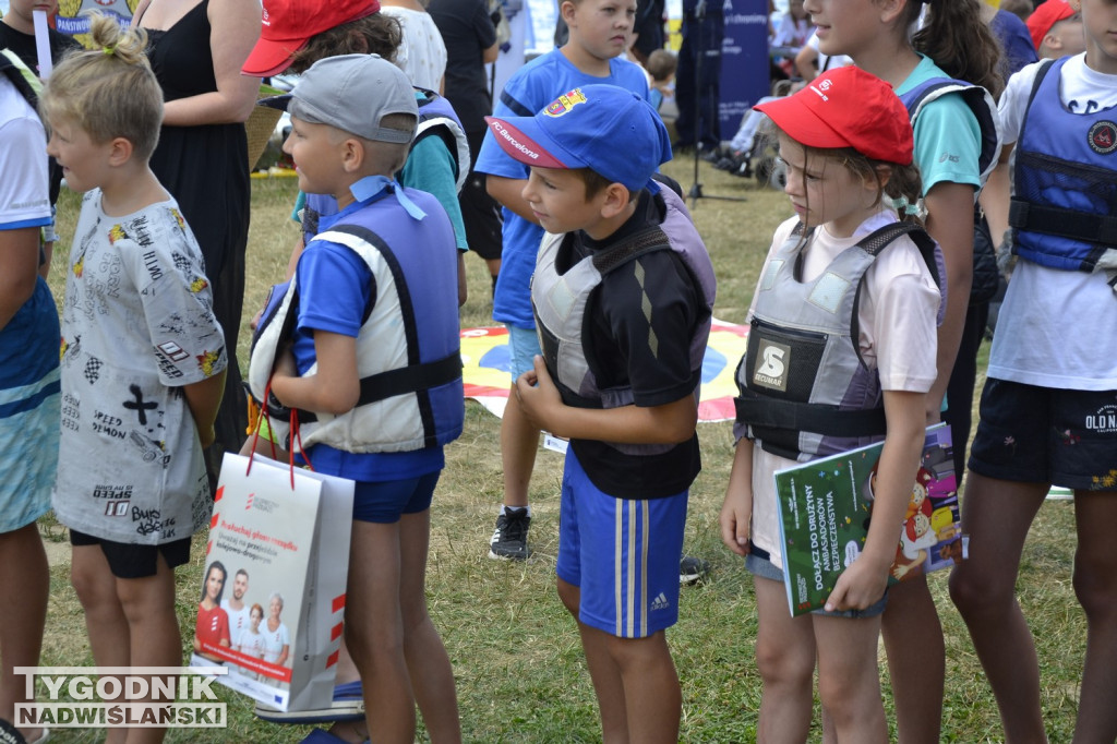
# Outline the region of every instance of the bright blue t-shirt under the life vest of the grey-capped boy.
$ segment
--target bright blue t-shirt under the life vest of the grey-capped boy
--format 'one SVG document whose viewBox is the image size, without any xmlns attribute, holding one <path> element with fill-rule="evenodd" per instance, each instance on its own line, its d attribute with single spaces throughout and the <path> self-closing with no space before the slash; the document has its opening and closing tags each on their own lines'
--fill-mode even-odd
<svg viewBox="0 0 1117 744">
<path fill-rule="evenodd" d="M 363 202 L 354 202 L 337 212 L 322 217 L 319 231 L 342 225 L 351 214 L 383 198 L 384 192 Z M 411 219 L 400 208 L 400 219 Z M 295 268 L 298 286 L 298 319 L 295 325 L 293 352 L 299 374 L 314 365 L 314 331 L 327 331 L 356 337 L 364 323 L 365 311 L 375 302 L 372 271 L 356 251 L 326 240 L 314 240 L 298 258 Z M 408 452 L 355 454 L 314 445 L 309 448 L 314 469 L 353 480 L 384 481 L 414 478 L 441 470 L 446 465 L 441 447 Z"/>
</svg>

